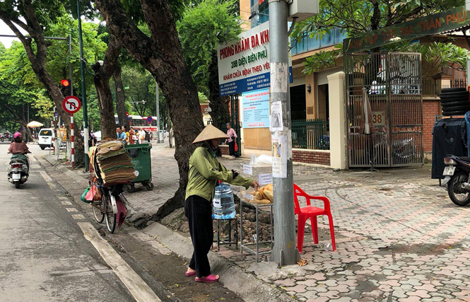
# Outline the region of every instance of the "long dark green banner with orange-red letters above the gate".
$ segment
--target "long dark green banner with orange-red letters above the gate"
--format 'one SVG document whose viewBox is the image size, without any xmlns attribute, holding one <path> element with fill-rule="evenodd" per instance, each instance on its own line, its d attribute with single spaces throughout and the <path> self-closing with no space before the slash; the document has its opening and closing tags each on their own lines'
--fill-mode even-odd
<svg viewBox="0 0 470 302">
<path fill-rule="evenodd" d="M 457 30 L 466 25 L 470 25 L 470 13 L 466 13 L 465 6 L 459 6 L 380 30 L 374 30 L 359 37 L 345 39 L 343 47 L 347 54 L 351 54 L 382 47 L 400 40 L 413 40 L 425 35 Z"/>
</svg>

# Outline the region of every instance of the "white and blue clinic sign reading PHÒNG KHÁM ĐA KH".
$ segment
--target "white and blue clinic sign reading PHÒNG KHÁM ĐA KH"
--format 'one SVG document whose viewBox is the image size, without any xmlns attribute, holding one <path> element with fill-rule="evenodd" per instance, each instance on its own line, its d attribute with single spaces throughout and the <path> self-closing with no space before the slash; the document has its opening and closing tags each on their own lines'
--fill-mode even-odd
<svg viewBox="0 0 470 302">
<path fill-rule="evenodd" d="M 217 49 L 219 94 L 231 95 L 269 88 L 269 22 L 238 35 L 233 44 Z M 292 83 L 289 58 L 289 81 Z"/>
</svg>

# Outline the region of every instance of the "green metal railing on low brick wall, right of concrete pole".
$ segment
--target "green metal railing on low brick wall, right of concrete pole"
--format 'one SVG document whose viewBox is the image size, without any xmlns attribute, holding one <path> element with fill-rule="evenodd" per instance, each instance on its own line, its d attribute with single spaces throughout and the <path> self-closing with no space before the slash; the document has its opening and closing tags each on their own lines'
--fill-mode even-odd
<svg viewBox="0 0 470 302">
<path fill-rule="evenodd" d="M 321 119 L 293 120 L 292 147 L 329 150 L 329 121 Z"/>
</svg>

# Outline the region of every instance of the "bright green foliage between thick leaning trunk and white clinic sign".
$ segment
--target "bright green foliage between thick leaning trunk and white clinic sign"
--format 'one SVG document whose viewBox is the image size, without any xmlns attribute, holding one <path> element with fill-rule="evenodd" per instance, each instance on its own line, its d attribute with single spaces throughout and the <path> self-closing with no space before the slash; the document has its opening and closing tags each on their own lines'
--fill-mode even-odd
<svg viewBox="0 0 470 302">
<path fill-rule="evenodd" d="M 235 1 L 204 0 L 187 6 L 177 23 L 184 61 L 198 91 L 208 94 L 208 66 L 218 45 L 230 42 L 241 33 L 239 18 L 230 13 Z"/>
</svg>

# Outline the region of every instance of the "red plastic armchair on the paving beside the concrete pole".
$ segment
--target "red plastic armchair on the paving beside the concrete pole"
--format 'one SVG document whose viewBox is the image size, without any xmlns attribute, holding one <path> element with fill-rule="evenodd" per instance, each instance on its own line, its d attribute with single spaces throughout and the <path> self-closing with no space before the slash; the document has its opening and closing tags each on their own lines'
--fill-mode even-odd
<svg viewBox="0 0 470 302">
<path fill-rule="evenodd" d="M 299 206 L 298 197 L 305 197 L 307 201 L 307 207 L 301 208 Z M 311 199 L 322 200 L 324 209 L 318 207 L 312 207 L 310 205 Z M 317 216 L 327 215 L 329 221 L 329 233 L 331 234 L 331 245 L 333 250 L 336 250 L 336 243 L 334 242 L 334 229 L 333 229 L 333 217 L 331 216 L 331 210 L 329 209 L 329 199 L 322 196 L 311 196 L 300 189 L 298 185 L 294 184 L 294 204 L 295 204 L 295 215 L 299 216 L 298 229 L 297 229 L 297 248 L 299 252 L 302 252 L 303 237 L 305 233 L 305 222 L 310 218 L 312 223 L 313 242 L 318 243 L 318 228 L 317 228 Z"/>
</svg>

